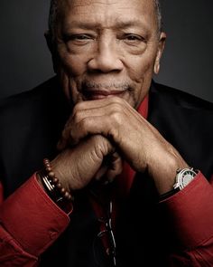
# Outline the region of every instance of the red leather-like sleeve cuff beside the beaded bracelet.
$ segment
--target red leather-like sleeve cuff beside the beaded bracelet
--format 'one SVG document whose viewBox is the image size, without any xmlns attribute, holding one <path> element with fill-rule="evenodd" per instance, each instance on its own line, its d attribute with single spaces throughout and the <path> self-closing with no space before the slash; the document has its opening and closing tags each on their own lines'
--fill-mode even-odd
<svg viewBox="0 0 213 267">
<path fill-rule="evenodd" d="M 35 266 L 68 224 L 34 174 L 0 205 L 0 265 Z"/>
</svg>

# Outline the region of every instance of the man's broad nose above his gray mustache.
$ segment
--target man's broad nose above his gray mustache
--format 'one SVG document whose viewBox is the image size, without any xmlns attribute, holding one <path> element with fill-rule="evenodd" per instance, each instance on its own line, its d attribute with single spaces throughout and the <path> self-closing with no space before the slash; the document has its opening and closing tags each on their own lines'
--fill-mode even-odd
<svg viewBox="0 0 213 267">
<path fill-rule="evenodd" d="M 103 38 L 97 42 L 97 51 L 88 61 L 88 70 L 90 72 L 121 72 L 123 62 L 119 58 L 119 51 L 116 47 L 116 41 Z"/>
</svg>

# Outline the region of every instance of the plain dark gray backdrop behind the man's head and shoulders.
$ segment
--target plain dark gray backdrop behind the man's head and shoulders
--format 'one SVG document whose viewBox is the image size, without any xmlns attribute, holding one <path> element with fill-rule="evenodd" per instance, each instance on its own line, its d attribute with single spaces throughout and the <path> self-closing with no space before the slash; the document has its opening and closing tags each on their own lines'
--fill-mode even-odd
<svg viewBox="0 0 213 267">
<path fill-rule="evenodd" d="M 43 33 L 47 0 L 0 1 L 0 98 L 53 75 Z M 213 1 L 162 0 L 168 39 L 156 81 L 213 101 Z"/>
</svg>

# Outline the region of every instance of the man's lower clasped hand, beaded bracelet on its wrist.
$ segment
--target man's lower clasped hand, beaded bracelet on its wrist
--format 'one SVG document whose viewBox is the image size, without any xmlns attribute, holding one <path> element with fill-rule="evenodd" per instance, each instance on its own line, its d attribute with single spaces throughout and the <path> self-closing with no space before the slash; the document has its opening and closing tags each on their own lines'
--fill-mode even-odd
<svg viewBox="0 0 213 267">
<path fill-rule="evenodd" d="M 100 135 L 66 148 L 51 162 L 55 175 L 68 190 L 81 189 L 92 179 L 113 180 L 122 171 L 121 158 L 111 143 Z"/>
</svg>

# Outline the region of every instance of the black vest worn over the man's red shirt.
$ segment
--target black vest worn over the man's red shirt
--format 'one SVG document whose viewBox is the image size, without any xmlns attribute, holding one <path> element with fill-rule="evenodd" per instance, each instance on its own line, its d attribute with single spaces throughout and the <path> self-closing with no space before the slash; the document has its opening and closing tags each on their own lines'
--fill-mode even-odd
<svg viewBox="0 0 213 267">
<path fill-rule="evenodd" d="M 43 157 L 57 155 L 56 144 L 69 114 L 69 104 L 56 78 L 0 101 L 0 179 L 5 196 L 42 167 Z M 212 103 L 153 81 L 148 120 L 191 167 L 200 169 L 207 179 L 212 176 Z M 164 229 L 167 237 L 162 239 L 165 222 L 157 201 L 153 181 L 146 174 L 136 174 L 117 219 L 118 266 L 166 266 L 167 254 L 176 243 L 168 228 Z M 71 216 L 71 227 L 44 253 L 42 266 L 57 265 L 57 259 L 59 266 L 97 266 L 92 248 L 97 218 L 84 194 L 77 197 Z"/>
</svg>

